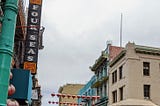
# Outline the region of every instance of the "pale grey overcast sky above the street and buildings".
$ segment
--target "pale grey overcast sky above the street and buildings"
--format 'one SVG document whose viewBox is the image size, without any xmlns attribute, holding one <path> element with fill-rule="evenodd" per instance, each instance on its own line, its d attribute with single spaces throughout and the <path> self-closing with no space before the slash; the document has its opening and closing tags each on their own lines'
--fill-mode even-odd
<svg viewBox="0 0 160 106">
<path fill-rule="evenodd" d="M 89 66 L 108 40 L 120 45 L 121 13 L 123 47 L 129 41 L 160 47 L 159 0 L 43 0 L 44 49 L 39 51 L 37 71 L 42 106 L 57 100 L 50 94 L 60 86 L 87 83 L 94 74 Z"/>
</svg>

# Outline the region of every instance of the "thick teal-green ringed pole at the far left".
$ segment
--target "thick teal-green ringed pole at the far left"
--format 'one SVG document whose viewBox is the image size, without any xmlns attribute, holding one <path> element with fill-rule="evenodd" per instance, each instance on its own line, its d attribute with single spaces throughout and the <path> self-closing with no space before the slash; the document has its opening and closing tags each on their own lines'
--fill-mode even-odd
<svg viewBox="0 0 160 106">
<path fill-rule="evenodd" d="M 18 0 L 6 0 L 0 35 L 0 106 L 6 106 L 8 96 L 17 13 Z"/>
</svg>

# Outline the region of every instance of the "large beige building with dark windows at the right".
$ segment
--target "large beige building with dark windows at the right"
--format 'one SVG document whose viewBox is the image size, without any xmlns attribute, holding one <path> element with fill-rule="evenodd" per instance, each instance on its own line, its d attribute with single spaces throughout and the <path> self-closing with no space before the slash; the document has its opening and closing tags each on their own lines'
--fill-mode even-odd
<svg viewBox="0 0 160 106">
<path fill-rule="evenodd" d="M 111 106 L 160 105 L 160 48 L 128 43 L 109 64 Z"/>
</svg>

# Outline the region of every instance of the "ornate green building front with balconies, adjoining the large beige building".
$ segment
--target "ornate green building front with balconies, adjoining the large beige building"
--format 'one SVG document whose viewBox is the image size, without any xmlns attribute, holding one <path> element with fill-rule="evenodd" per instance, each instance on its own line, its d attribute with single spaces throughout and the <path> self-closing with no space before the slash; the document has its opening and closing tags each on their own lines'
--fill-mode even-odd
<svg viewBox="0 0 160 106">
<path fill-rule="evenodd" d="M 107 50 L 107 49 L 106 49 Z M 95 64 L 91 66 L 91 70 L 95 73 L 96 81 L 92 84 L 92 88 L 96 89 L 96 95 L 100 96 L 94 106 L 107 106 L 108 103 L 108 53 L 102 51 L 100 57 Z"/>
</svg>

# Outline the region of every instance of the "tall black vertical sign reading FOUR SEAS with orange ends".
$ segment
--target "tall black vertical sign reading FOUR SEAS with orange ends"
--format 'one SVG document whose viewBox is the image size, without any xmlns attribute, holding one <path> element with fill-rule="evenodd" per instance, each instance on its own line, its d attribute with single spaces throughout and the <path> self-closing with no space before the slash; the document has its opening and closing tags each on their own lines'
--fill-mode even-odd
<svg viewBox="0 0 160 106">
<path fill-rule="evenodd" d="M 41 7 L 42 0 L 29 1 L 24 69 L 30 70 L 33 75 L 37 73 Z"/>
</svg>

